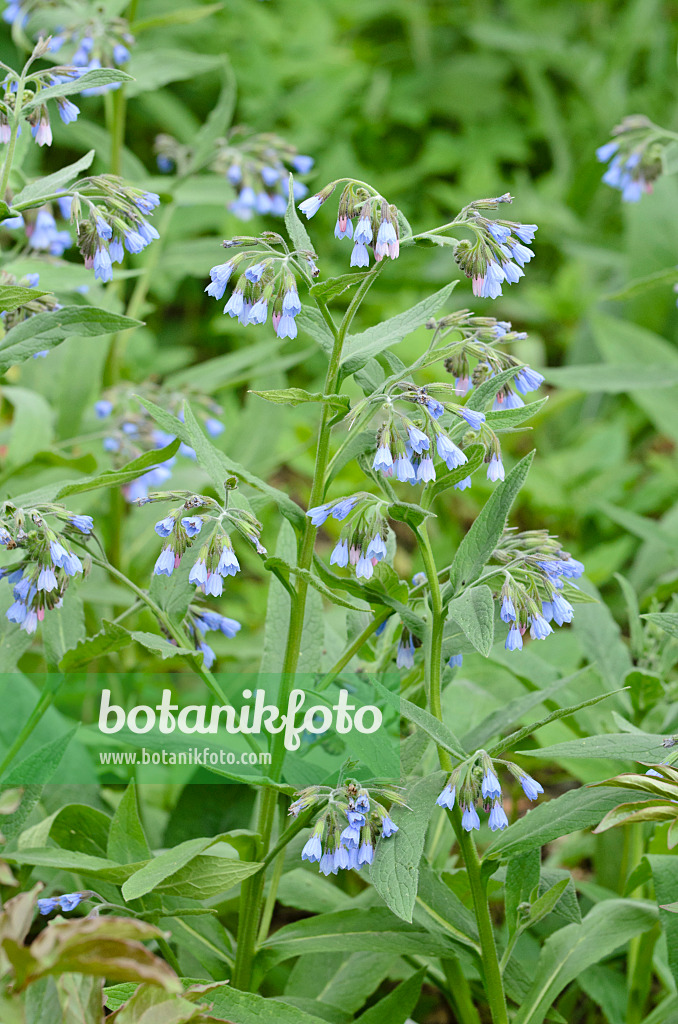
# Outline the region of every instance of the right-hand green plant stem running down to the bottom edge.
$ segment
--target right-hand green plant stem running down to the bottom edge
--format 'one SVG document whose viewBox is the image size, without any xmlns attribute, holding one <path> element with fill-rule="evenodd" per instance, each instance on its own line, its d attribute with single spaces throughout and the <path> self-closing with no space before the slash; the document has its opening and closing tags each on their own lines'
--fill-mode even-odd
<svg viewBox="0 0 678 1024">
<path fill-rule="evenodd" d="M 428 580 L 428 587 L 431 593 L 431 614 L 427 636 L 426 651 L 426 690 L 428 694 L 429 710 L 431 714 L 442 721 L 442 701 L 440 680 L 442 675 L 442 631 L 444 628 L 444 611 L 442 607 L 442 594 L 440 584 L 435 568 L 431 543 L 428 538 L 426 522 L 424 521 L 417 529 L 417 540 L 421 551 L 424 569 Z M 438 748 L 438 760 L 443 771 L 450 772 L 454 768 L 450 754 Z M 508 1024 L 508 1013 L 506 1009 L 506 997 L 504 995 L 504 985 L 499 967 L 497 954 L 497 943 L 495 942 L 495 932 L 492 918 L 490 916 L 490 905 L 488 903 L 486 887 L 480 873 L 480 859 L 475 848 L 473 837 L 462 828 L 461 813 L 459 807 L 455 805 L 454 810 L 449 811 L 449 817 L 459 843 L 459 848 L 466 864 L 471 895 L 473 897 L 473 909 L 478 926 L 480 938 L 480 949 L 482 958 L 482 969 L 484 974 L 485 991 L 490 1004 L 493 1024 Z"/>
</svg>

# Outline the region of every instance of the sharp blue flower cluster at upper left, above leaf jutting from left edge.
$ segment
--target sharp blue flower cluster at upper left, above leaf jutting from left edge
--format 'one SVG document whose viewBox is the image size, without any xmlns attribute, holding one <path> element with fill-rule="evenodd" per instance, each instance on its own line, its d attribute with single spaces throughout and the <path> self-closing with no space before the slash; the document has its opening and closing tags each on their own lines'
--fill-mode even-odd
<svg viewBox="0 0 678 1024">
<path fill-rule="evenodd" d="M 103 283 L 113 276 L 113 264 L 122 263 L 125 250 L 140 253 L 160 238 L 145 219 L 160 203 L 155 193 L 125 184 L 112 174 L 81 179 L 71 196 L 71 221 L 78 231 L 78 248 L 85 266 Z"/>
</svg>

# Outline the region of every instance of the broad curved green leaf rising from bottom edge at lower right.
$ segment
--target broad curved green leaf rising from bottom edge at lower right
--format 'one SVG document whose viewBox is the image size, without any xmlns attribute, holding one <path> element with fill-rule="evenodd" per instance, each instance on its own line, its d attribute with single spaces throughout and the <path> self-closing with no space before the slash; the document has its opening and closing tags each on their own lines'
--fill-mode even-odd
<svg viewBox="0 0 678 1024">
<path fill-rule="evenodd" d="M 639 901 L 603 900 L 581 925 L 566 925 L 546 940 L 535 968 L 535 982 L 514 1024 L 542 1024 L 563 988 L 592 964 L 609 956 L 656 921 L 653 907 Z"/>
</svg>

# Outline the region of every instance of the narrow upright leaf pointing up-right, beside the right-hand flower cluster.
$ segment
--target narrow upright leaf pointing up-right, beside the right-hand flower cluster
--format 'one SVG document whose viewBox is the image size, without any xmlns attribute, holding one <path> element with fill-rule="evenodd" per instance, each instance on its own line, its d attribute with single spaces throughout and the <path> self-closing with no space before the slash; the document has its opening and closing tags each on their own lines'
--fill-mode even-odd
<svg viewBox="0 0 678 1024">
<path fill-rule="evenodd" d="M 506 479 L 497 485 L 485 502 L 480 514 L 463 538 L 450 570 L 446 599 L 456 596 L 469 583 L 473 583 L 492 557 L 501 538 L 511 506 L 532 465 L 534 452 L 513 467 Z"/>
</svg>

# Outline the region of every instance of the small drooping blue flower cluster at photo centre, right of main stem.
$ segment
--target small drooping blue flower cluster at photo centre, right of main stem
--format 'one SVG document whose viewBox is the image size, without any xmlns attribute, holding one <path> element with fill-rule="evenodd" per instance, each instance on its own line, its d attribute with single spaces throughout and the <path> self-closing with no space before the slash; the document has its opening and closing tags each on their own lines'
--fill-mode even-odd
<svg viewBox="0 0 678 1024">
<path fill-rule="evenodd" d="M 350 564 L 358 580 L 372 579 L 375 565 L 387 555 L 386 504 L 374 495 L 359 493 L 308 509 L 306 515 L 313 526 L 322 526 L 330 516 L 344 523 L 330 556 L 331 565 L 345 568 Z"/>
</svg>

